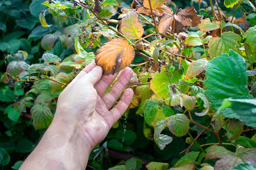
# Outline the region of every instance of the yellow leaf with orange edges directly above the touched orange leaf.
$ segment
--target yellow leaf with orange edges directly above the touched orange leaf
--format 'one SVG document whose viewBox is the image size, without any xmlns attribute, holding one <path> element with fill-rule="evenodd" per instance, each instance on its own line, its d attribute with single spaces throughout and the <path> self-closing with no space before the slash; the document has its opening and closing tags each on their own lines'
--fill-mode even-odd
<svg viewBox="0 0 256 170">
<path fill-rule="evenodd" d="M 130 11 L 127 13 L 125 18 L 122 20 L 120 32 L 131 40 L 137 40 L 141 38 L 144 29 L 138 20 L 138 14 L 136 12 Z"/>
</svg>

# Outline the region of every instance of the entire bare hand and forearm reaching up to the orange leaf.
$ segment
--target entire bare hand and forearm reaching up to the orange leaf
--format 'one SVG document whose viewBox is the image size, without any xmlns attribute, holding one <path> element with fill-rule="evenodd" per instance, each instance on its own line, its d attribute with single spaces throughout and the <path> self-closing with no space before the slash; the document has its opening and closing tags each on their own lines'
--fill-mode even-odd
<svg viewBox="0 0 256 170">
<path fill-rule="evenodd" d="M 105 94 L 117 74 L 102 76 L 94 62 L 85 67 L 61 92 L 52 124 L 20 169 L 85 169 L 90 152 L 133 98 L 133 90 L 125 90 L 133 75 L 130 68 L 122 71 Z"/>
</svg>

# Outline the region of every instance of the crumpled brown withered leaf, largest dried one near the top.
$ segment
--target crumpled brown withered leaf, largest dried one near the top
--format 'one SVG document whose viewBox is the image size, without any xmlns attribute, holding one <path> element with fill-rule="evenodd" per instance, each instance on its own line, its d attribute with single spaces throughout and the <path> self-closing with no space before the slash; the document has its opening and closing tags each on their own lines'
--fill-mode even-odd
<svg viewBox="0 0 256 170">
<path fill-rule="evenodd" d="M 174 15 L 163 15 L 159 22 L 158 31 L 164 33 L 171 27 L 171 30 L 174 29 L 175 33 L 184 32 L 185 28 L 196 27 L 202 20 L 203 15 L 196 15 L 195 7 L 190 6 L 184 10 L 177 10 Z"/>
</svg>

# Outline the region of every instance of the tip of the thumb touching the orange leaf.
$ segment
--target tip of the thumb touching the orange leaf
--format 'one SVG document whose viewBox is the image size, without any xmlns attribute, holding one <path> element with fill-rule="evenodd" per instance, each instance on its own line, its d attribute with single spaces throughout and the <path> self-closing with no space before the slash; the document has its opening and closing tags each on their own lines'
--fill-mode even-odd
<svg viewBox="0 0 256 170">
<path fill-rule="evenodd" d="M 102 76 L 102 68 L 100 66 L 96 66 L 92 69 L 92 71 L 82 76 L 81 81 L 83 83 L 96 84 L 101 79 L 101 76 Z"/>
</svg>

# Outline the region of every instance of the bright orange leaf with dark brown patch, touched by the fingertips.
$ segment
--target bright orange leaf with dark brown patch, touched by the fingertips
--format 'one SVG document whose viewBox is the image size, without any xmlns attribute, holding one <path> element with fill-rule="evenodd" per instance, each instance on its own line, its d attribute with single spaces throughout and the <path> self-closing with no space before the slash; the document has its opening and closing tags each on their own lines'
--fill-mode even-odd
<svg viewBox="0 0 256 170">
<path fill-rule="evenodd" d="M 102 67 L 104 75 L 109 75 L 129 66 L 134 56 L 135 51 L 127 40 L 113 39 L 97 50 L 95 62 Z"/>
</svg>

